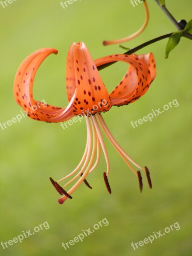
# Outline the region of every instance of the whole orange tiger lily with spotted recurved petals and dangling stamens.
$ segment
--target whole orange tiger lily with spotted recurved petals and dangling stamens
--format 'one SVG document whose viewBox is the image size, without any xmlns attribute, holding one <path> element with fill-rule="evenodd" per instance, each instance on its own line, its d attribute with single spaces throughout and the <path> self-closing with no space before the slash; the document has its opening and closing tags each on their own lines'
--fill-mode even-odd
<svg viewBox="0 0 192 256">
<path fill-rule="evenodd" d="M 145 172 L 151 188 L 151 180 L 147 167 L 145 166 L 142 168 L 139 166 L 120 147 L 109 131 L 101 113 L 109 111 L 112 106 L 128 105 L 146 93 L 156 76 L 156 66 L 153 54 L 110 55 L 93 61 L 83 42 L 73 43 L 67 55 L 66 70 L 66 88 L 69 104 L 65 108 L 52 105 L 42 107 L 39 105 L 39 102 L 33 98 L 32 87 L 35 73 L 48 55 L 51 53 L 57 54 L 57 52 L 56 49 L 51 48 L 39 49 L 23 61 L 15 76 L 14 96 L 17 104 L 19 104 L 26 114 L 34 120 L 63 122 L 73 116 L 79 115 L 84 116 L 86 120 L 87 143 L 79 165 L 73 172 L 57 182 L 50 178 L 55 189 L 62 195 L 58 202 L 63 204 L 67 198 L 72 198 L 71 194 L 82 182 L 91 188 L 86 177 L 96 168 L 99 162 L 101 148 L 107 165 L 107 171 L 104 172 L 103 176 L 108 192 L 111 194 L 111 188 L 108 182 L 109 160 L 101 130 L 105 133 L 108 140 L 120 154 L 125 163 L 127 163 L 128 167 L 137 176 L 140 191 L 142 191 L 143 186 L 141 173 L 140 171 L 136 172 L 130 163 Z M 123 79 L 109 94 L 99 75 L 97 67 L 113 61 L 123 61 L 129 64 L 129 68 Z M 32 106 L 34 105 L 38 105 L 38 108 L 32 110 Z M 58 184 L 72 175 L 74 175 L 74 177 L 64 186 Z M 68 192 L 64 190 L 65 186 L 76 179 L 76 183 L 68 190 Z"/>
</svg>

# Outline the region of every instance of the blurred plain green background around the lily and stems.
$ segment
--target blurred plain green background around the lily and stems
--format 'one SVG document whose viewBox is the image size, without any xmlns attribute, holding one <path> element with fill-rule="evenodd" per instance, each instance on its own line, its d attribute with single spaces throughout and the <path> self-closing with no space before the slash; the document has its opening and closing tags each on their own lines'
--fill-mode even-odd
<svg viewBox="0 0 192 256">
<path fill-rule="evenodd" d="M 191 0 L 166 0 L 177 20 L 191 19 Z M 123 44 L 135 47 L 157 36 L 176 31 L 173 24 L 148 1 L 150 20 L 142 35 Z M 117 45 L 104 47 L 103 40 L 119 39 L 136 32 L 143 24 L 143 4 L 133 7 L 129 0 L 77 0 L 67 8 L 60 0 L 17 0 L 6 8 L 0 6 L 0 122 L 20 114 L 13 97 L 13 81 L 21 62 L 43 47 L 58 49 L 41 65 L 35 78 L 35 99 L 65 107 L 65 68 L 70 44 L 83 41 L 93 59 L 123 53 Z M 153 52 L 157 77 L 148 92 L 137 102 L 113 107 L 103 117 L 112 134 L 128 154 L 151 172 L 153 189 L 140 194 L 137 178 L 128 169 L 106 137 L 111 164 L 109 195 L 102 177 L 106 170 L 102 154 L 99 166 L 87 180 L 93 189 L 81 185 L 73 200 L 59 205 L 59 194 L 49 177 L 59 180 L 81 160 L 86 143 L 85 120 L 63 130 L 60 123 L 36 122 L 25 117 L 8 128 L 0 128 L 0 241 L 9 241 L 22 231 L 33 230 L 45 221 L 49 229 L 40 230 L 23 242 L 3 250 L 5 256 L 186 256 L 191 243 L 191 41 L 181 38 L 178 47 L 165 59 L 167 39 L 145 47 L 137 53 Z M 111 91 L 127 69 L 118 63 L 100 72 Z M 137 128 L 130 124 L 152 109 L 177 99 L 179 106 L 170 108 Z M 107 218 L 109 225 L 100 227 L 83 242 L 68 242 L 82 230 Z M 180 230 L 171 231 L 153 244 L 135 250 L 139 242 L 178 222 Z"/>
</svg>

